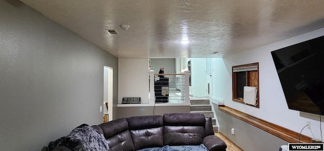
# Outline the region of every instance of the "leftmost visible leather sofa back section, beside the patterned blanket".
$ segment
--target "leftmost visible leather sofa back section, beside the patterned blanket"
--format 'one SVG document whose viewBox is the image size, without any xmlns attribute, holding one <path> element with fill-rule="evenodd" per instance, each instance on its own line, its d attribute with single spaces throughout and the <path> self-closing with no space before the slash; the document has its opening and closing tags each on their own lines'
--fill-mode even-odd
<svg viewBox="0 0 324 151">
<path fill-rule="evenodd" d="M 125 118 L 98 125 L 108 141 L 111 151 L 135 150 L 128 122 Z"/>
</svg>

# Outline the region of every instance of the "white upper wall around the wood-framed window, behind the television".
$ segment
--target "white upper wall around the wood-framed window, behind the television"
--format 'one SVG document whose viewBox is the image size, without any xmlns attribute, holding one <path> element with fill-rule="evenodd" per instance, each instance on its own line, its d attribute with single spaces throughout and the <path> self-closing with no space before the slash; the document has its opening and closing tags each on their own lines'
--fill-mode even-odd
<svg viewBox="0 0 324 151">
<path fill-rule="evenodd" d="M 307 114 L 310 118 L 305 118 L 305 116 L 300 116 L 299 111 L 288 109 L 270 52 L 322 35 L 324 35 L 324 28 L 251 49 L 248 52 L 224 57 L 223 59 L 213 59 L 214 97 L 225 99 L 225 106 L 286 127 L 298 133 L 306 125 L 306 121 L 310 121 L 315 138 L 320 139 L 319 115 Z M 259 62 L 260 109 L 232 101 L 231 67 L 255 62 Z M 302 134 L 313 137 L 309 129 L 304 129 Z"/>
</svg>

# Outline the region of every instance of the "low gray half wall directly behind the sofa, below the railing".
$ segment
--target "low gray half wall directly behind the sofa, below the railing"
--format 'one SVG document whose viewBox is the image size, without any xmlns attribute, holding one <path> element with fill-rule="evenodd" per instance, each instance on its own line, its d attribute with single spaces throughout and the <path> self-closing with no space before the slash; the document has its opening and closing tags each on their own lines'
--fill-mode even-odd
<svg viewBox="0 0 324 151">
<path fill-rule="evenodd" d="M 117 118 L 153 115 L 153 111 L 154 115 L 163 115 L 165 113 L 189 113 L 190 106 L 118 107 Z"/>
</svg>

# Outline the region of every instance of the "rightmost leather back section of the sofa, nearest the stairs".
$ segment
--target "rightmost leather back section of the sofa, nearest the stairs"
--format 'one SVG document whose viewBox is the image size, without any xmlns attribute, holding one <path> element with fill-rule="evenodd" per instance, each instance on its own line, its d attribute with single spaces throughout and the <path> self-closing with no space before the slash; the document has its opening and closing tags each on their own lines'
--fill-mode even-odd
<svg viewBox="0 0 324 151">
<path fill-rule="evenodd" d="M 203 114 L 164 114 L 164 145 L 200 145 L 205 137 L 205 124 Z"/>
</svg>

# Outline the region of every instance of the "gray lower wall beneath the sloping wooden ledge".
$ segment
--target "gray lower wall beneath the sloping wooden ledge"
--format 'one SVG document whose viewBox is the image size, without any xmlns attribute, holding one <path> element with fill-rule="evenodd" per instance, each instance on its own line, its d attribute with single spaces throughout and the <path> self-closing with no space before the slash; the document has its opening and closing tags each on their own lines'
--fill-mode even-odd
<svg viewBox="0 0 324 151">
<path fill-rule="evenodd" d="M 272 151 L 279 150 L 281 145 L 288 145 L 286 140 L 218 110 L 218 105 L 213 104 L 213 108 L 219 131 L 243 150 Z M 235 129 L 234 135 L 231 134 L 232 128 Z"/>
</svg>

